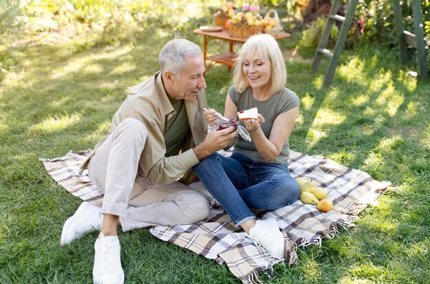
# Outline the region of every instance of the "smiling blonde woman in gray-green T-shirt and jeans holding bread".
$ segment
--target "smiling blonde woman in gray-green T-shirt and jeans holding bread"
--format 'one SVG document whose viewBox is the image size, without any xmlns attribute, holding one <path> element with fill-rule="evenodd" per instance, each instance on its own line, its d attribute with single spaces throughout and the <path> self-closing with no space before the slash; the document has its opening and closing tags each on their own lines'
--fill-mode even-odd
<svg viewBox="0 0 430 284">
<path fill-rule="evenodd" d="M 194 166 L 207 190 L 225 208 L 235 226 L 266 248 L 284 257 L 284 236 L 275 219 L 256 220 L 249 208 L 274 210 L 292 204 L 299 187 L 288 171 L 288 137 L 299 98 L 284 87 L 286 67 L 278 43 L 269 34 L 251 36 L 242 46 L 234 68 L 234 85 L 225 100 L 225 117 L 258 108 L 258 118 L 240 122 L 251 142 L 237 136 L 231 157 L 214 153 Z M 214 126 L 216 111 L 205 111 Z M 230 127 L 234 131 L 234 127 Z M 216 130 L 212 130 L 216 131 Z"/>
</svg>

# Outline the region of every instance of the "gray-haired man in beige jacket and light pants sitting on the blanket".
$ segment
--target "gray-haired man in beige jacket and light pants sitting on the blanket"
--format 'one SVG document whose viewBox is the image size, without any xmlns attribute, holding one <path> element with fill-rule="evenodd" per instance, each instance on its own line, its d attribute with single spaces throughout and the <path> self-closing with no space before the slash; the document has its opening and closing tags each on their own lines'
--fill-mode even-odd
<svg viewBox="0 0 430 284">
<path fill-rule="evenodd" d="M 169 41 L 159 64 L 159 72 L 131 89 L 109 135 L 81 166 L 81 173 L 88 168 L 91 182 L 104 190 L 102 209 L 82 203 L 65 222 L 60 243 L 100 228 L 94 283 L 124 283 L 117 226 L 123 231 L 171 226 L 208 215 L 207 199 L 186 185 L 196 176 L 191 168 L 237 134 L 229 127 L 205 135 L 205 66 L 199 46 Z"/>
</svg>

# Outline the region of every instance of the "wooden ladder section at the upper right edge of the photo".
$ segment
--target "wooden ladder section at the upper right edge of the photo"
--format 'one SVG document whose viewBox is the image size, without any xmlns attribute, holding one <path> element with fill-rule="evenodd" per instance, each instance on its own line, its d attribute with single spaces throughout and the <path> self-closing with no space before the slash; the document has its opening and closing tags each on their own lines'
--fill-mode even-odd
<svg viewBox="0 0 430 284">
<path fill-rule="evenodd" d="M 427 43 L 424 39 L 424 29 L 422 25 L 422 12 L 420 0 L 412 0 L 412 15 L 414 17 L 415 34 L 405 30 L 403 25 L 402 7 L 400 0 L 393 0 L 394 18 L 396 21 L 398 44 L 400 45 L 400 60 L 403 65 L 407 64 L 407 45 L 411 45 L 417 50 L 418 67 L 420 69 L 420 78 L 427 80 L 426 49 Z"/>
</svg>

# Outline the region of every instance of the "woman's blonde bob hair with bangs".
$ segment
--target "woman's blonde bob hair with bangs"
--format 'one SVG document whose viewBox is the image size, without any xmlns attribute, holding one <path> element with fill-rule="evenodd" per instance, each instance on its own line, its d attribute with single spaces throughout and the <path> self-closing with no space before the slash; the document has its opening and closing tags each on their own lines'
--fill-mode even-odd
<svg viewBox="0 0 430 284">
<path fill-rule="evenodd" d="M 270 94 L 280 91 L 286 84 L 286 67 L 278 42 L 270 34 L 254 34 L 243 45 L 234 65 L 233 81 L 237 91 L 245 91 L 249 86 L 246 74 L 243 73 L 243 61 L 251 61 L 262 56 L 271 63 Z"/>
</svg>

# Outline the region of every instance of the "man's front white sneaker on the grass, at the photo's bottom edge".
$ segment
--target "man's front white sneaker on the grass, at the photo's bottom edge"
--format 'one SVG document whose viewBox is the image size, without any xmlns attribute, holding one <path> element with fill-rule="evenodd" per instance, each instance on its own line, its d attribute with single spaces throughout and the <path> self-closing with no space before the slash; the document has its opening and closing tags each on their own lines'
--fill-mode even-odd
<svg viewBox="0 0 430 284">
<path fill-rule="evenodd" d="M 100 237 L 94 244 L 94 284 L 122 284 L 124 271 L 121 267 L 121 245 L 117 236 Z"/>
</svg>

